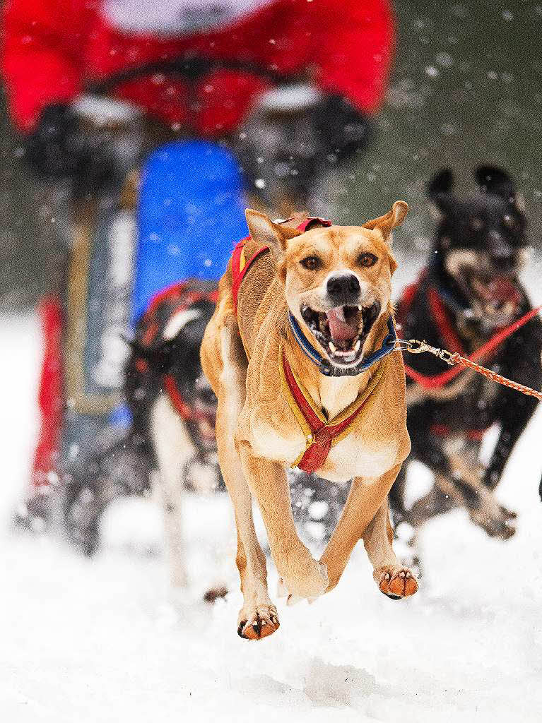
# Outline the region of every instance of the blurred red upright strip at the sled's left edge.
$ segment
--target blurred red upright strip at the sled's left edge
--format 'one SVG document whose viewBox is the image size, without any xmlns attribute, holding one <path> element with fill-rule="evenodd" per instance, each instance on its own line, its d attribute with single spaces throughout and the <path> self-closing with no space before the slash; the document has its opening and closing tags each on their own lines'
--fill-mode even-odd
<svg viewBox="0 0 542 723">
<path fill-rule="evenodd" d="M 62 430 L 62 306 L 56 296 L 48 296 L 38 307 L 43 338 L 38 405 L 41 414 L 38 444 L 35 448 L 30 486 L 51 484 L 50 472 L 56 471 Z"/>
</svg>

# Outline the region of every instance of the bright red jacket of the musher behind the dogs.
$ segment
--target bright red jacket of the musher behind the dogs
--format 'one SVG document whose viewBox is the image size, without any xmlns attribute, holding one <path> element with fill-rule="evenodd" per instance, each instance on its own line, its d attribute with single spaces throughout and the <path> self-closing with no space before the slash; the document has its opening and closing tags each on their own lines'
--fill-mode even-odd
<svg viewBox="0 0 542 723">
<path fill-rule="evenodd" d="M 387 0 L 243 0 L 246 9 L 237 4 L 234 19 L 188 34 L 123 29 L 107 14 L 108 3 L 117 3 L 128 7 L 130 17 L 132 3 L 132 17 L 139 20 L 135 6 L 142 1 L 7 0 L 2 70 L 14 124 L 32 130 L 44 106 L 72 100 L 89 80 L 190 53 L 255 61 L 281 72 L 310 67 L 322 90 L 344 95 L 366 113 L 378 110 L 384 98 L 394 40 Z M 198 13 L 198 3 L 206 1 L 192 0 L 192 8 Z M 187 0 L 151 0 L 146 10 L 162 5 L 169 12 L 172 2 L 186 10 Z M 185 85 L 159 75 L 125 83 L 115 95 L 213 137 L 237 127 L 267 86 L 247 73 L 217 71 L 195 83 L 191 110 Z"/>
</svg>

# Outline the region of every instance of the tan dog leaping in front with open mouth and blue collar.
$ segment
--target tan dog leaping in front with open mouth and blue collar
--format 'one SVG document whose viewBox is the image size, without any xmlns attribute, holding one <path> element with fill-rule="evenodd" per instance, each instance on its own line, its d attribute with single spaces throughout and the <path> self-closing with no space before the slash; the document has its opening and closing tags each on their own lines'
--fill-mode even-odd
<svg viewBox="0 0 542 723">
<path fill-rule="evenodd" d="M 410 451 L 402 356 L 389 354 L 357 373 L 383 346 L 392 322 L 391 275 L 397 264 L 391 231 L 406 213 L 407 204 L 397 201 L 363 226 L 323 227 L 313 219 L 302 232 L 292 228 L 300 218 L 279 224 L 247 210 L 251 237 L 241 266 L 248 260 L 250 268 L 240 284 L 237 314 L 235 256 L 221 278 L 201 360 L 218 397 L 216 437 L 237 523 L 244 597 L 238 633 L 244 638 L 263 638 L 279 627 L 251 493 L 290 595 L 313 599 L 333 589 L 360 539 L 384 594 L 399 599 L 418 589 L 391 547 L 387 500 Z M 269 250 L 250 263 L 263 246 Z M 300 334 L 321 356 L 322 367 L 302 350 Z M 323 433 L 310 433 L 286 377 L 295 378 Z M 331 425 L 348 422 L 352 410 L 355 418 L 330 441 Z M 284 470 L 303 464 L 331 481 L 353 479 L 319 562 L 297 536 Z"/>
</svg>

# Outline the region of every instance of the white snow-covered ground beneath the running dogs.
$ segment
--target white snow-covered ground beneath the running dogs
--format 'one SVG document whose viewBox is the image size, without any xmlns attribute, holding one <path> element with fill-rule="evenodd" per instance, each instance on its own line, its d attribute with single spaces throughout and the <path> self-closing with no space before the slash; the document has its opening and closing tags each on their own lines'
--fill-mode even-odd
<svg viewBox="0 0 542 723">
<path fill-rule="evenodd" d="M 218 552 L 232 549 L 225 498 L 187 499 L 193 591 L 184 602 L 169 594 L 153 502 L 111 510 L 91 561 L 62 542 L 12 534 L 35 435 L 35 319 L 0 319 L 0 347 L 2 721 L 541 719 L 542 409 L 499 488 L 519 513 L 514 538 L 488 539 L 460 511 L 432 521 L 423 585 L 404 602 L 378 592 L 357 549 L 335 591 L 312 605 L 279 602 L 279 631 L 250 643 L 235 629 L 233 555 L 234 591 L 214 606 L 198 602 Z"/>
</svg>

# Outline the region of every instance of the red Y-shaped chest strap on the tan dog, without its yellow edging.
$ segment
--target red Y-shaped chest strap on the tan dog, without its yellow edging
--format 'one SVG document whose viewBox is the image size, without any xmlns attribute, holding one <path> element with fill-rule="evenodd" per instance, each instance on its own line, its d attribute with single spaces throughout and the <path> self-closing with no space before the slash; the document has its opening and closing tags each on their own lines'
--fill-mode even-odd
<svg viewBox="0 0 542 723">
<path fill-rule="evenodd" d="M 305 399 L 305 396 L 297 385 L 284 353 L 282 354 L 282 366 L 284 369 L 284 377 L 286 378 L 292 397 L 295 399 L 295 403 L 300 408 L 302 415 L 310 427 L 310 431 L 313 433 L 313 442 L 305 451 L 297 466 L 307 474 L 312 474 L 326 461 L 329 450 L 331 449 L 331 442 L 354 422 L 357 415 L 360 414 L 360 411 L 365 406 L 365 402 L 360 404 L 350 416 L 347 416 L 347 418 L 343 419 L 339 424 L 324 424 L 321 419 L 318 419 L 310 403 Z"/>
</svg>

